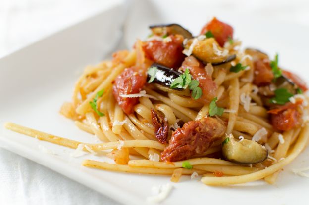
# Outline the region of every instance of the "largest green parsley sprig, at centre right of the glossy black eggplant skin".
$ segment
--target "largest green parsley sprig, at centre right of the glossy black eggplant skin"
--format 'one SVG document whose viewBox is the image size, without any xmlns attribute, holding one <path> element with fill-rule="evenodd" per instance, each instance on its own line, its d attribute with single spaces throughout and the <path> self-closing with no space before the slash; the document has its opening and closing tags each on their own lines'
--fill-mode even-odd
<svg viewBox="0 0 309 205">
<path fill-rule="evenodd" d="M 183 74 L 176 78 L 170 88 L 183 88 L 189 87 L 192 90 L 191 96 L 193 99 L 197 100 L 202 96 L 202 89 L 199 87 L 200 82 L 198 80 L 191 80 L 191 75 L 189 69 L 187 68 Z"/>
</svg>

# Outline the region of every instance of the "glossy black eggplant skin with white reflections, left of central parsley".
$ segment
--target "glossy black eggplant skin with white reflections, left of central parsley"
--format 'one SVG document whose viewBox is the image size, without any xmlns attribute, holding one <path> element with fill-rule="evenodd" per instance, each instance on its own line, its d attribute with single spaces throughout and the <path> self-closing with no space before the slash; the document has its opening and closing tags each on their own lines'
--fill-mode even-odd
<svg viewBox="0 0 309 205">
<path fill-rule="evenodd" d="M 179 73 L 178 71 L 175 71 L 158 63 L 153 63 L 150 67 L 157 68 L 157 72 L 155 74 L 153 82 L 163 85 L 165 87 L 170 88 L 172 82 L 181 75 L 181 73 Z M 150 79 L 150 77 L 151 77 L 150 75 L 147 75 L 147 81 Z M 181 88 L 173 88 L 173 89 L 183 90 Z"/>
</svg>

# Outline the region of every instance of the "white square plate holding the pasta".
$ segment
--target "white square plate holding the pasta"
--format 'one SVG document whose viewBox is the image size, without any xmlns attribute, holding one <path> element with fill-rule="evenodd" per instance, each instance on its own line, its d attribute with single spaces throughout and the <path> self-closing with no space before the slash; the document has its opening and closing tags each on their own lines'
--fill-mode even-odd
<svg viewBox="0 0 309 205">
<path fill-rule="evenodd" d="M 177 9 L 169 9 L 174 1 L 133 1 L 122 42 L 132 47 L 137 37 L 144 39 L 147 36 L 147 25 L 153 23 L 177 22 L 197 34 L 207 21 L 206 17 L 216 15 L 234 27 L 235 36 L 246 46 L 270 54 L 280 52 L 280 65 L 302 75 L 309 82 L 308 46 L 305 45 L 309 36 L 307 28 L 244 18 L 233 13 L 214 12 L 195 3 L 177 2 Z M 122 3 L 114 1 L 101 14 L 0 59 L 0 124 L 10 121 L 70 139 L 95 142 L 93 136 L 80 131 L 58 111 L 64 101 L 70 100 L 74 82 L 83 68 L 103 60 L 103 56 L 119 41 L 117 37 L 123 23 L 123 15 L 120 14 L 124 13 Z M 0 146 L 123 204 L 145 204 L 153 185 L 169 183 L 168 176 L 86 168 L 81 165 L 84 159 L 109 160 L 91 155 L 71 158 L 73 150 L 69 148 L 38 141 L 2 127 L 0 130 Z M 57 155 L 42 153 L 38 145 Z M 308 156 L 309 149 L 285 167 L 276 185 L 257 182 L 210 187 L 198 179 L 190 180 L 184 176 L 181 182 L 173 183 L 175 188 L 162 204 L 295 204 L 295 199 L 305 204 L 308 202 L 309 179 L 292 174 L 290 169 L 308 166 Z"/>
</svg>

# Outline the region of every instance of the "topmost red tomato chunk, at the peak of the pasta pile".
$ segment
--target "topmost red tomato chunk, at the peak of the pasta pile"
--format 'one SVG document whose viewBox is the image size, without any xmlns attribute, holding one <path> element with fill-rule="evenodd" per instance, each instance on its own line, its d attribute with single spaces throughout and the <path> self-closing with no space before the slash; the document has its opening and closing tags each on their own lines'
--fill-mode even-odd
<svg viewBox="0 0 309 205">
<path fill-rule="evenodd" d="M 205 34 L 207 31 L 211 31 L 221 47 L 229 38 L 233 39 L 233 27 L 215 17 L 202 28 L 201 34 Z"/>
</svg>

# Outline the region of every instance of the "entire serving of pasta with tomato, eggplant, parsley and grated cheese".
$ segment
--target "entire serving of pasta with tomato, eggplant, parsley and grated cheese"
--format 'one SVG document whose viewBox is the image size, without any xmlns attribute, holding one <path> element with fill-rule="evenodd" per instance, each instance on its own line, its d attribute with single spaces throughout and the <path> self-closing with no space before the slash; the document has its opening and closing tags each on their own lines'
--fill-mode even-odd
<svg viewBox="0 0 309 205">
<path fill-rule="evenodd" d="M 152 25 L 146 40 L 86 67 L 60 113 L 101 141 L 91 144 L 14 123 L 7 129 L 114 163 L 92 168 L 196 177 L 206 185 L 263 179 L 309 144 L 306 83 L 216 18 L 197 36 L 179 24 Z"/>
</svg>

